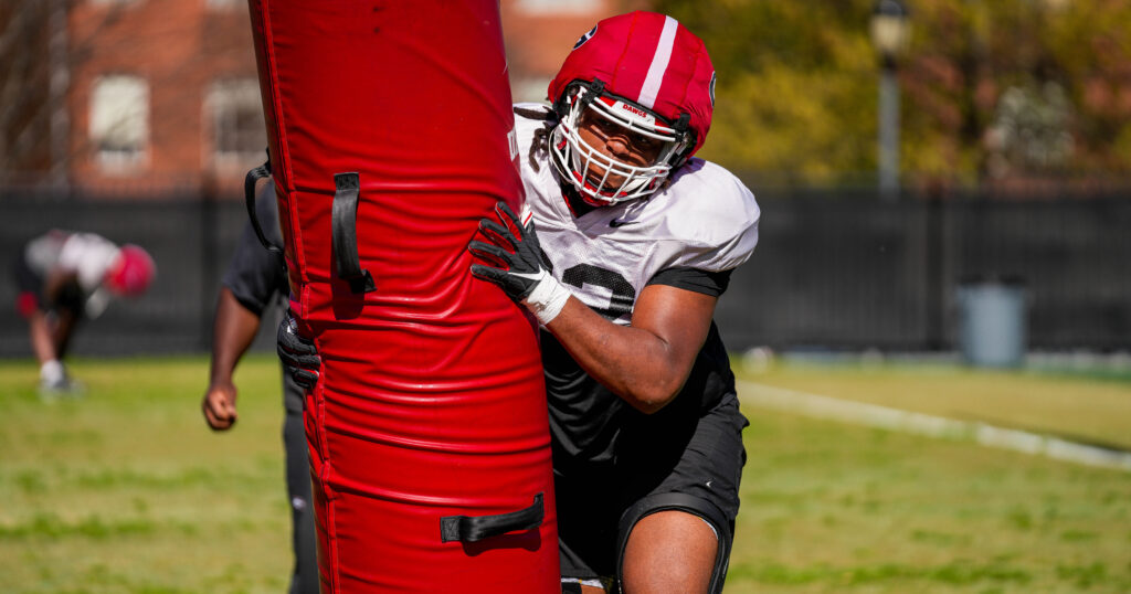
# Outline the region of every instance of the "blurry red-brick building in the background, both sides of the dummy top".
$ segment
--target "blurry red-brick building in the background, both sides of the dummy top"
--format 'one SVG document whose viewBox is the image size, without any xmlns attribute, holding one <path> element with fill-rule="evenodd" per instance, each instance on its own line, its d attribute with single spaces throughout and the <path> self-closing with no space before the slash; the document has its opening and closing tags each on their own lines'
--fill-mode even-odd
<svg viewBox="0 0 1131 594">
<path fill-rule="evenodd" d="M 545 97 L 573 42 L 619 0 L 503 0 L 516 101 Z M 215 183 L 266 145 L 244 0 L 78 0 L 69 14 L 70 182 L 119 195 Z"/>
</svg>

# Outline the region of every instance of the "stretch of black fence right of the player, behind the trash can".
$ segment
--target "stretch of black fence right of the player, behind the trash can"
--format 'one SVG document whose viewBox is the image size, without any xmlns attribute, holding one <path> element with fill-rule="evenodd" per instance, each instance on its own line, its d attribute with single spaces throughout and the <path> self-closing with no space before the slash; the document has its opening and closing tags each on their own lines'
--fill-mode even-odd
<svg viewBox="0 0 1131 594">
<path fill-rule="evenodd" d="M 1024 283 L 1031 348 L 1131 347 L 1131 197 L 762 200 L 718 307 L 734 350 L 953 350 L 958 287 Z"/>
</svg>

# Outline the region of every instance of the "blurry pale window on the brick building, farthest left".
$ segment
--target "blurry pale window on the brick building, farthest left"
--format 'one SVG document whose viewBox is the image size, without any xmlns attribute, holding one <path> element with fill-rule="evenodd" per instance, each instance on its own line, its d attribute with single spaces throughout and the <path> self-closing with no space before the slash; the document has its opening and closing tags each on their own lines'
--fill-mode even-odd
<svg viewBox="0 0 1131 594">
<path fill-rule="evenodd" d="M 135 167 L 149 143 L 149 85 L 136 76 L 103 76 L 90 93 L 90 143 L 98 164 Z"/>
</svg>

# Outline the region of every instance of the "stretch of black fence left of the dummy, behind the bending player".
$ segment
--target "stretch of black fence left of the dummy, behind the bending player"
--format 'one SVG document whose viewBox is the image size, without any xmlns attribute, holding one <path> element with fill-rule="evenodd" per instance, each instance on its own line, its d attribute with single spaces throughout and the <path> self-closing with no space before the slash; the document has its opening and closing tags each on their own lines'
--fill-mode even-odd
<svg viewBox="0 0 1131 594">
<path fill-rule="evenodd" d="M 101 317 L 81 322 L 72 353 L 208 350 L 219 278 L 247 221 L 241 200 L 206 199 L 195 191 L 114 199 L 25 189 L 0 190 L 0 257 L 9 268 L 25 241 L 53 227 L 137 243 L 157 264 L 157 276 L 145 295 L 115 300 Z M 15 299 L 15 281 L 7 270 L 0 285 L 0 356 L 31 355 L 27 326 L 16 312 Z"/>
</svg>

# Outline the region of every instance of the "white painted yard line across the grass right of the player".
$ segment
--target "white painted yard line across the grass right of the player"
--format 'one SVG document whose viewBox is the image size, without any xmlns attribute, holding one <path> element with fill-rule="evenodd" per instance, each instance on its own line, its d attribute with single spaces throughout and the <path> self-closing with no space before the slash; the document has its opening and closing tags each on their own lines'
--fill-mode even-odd
<svg viewBox="0 0 1131 594">
<path fill-rule="evenodd" d="M 1004 429 L 981 422 L 956 421 L 877 404 L 858 403 L 804 391 L 737 381 L 744 404 L 829 419 L 846 423 L 877 427 L 920 436 L 970 439 L 986 447 L 1025 454 L 1039 454 L 1053 459 L 1131 471 L 1131 453 L 1077 444 L 1039 433 Z"/>
</svg>

